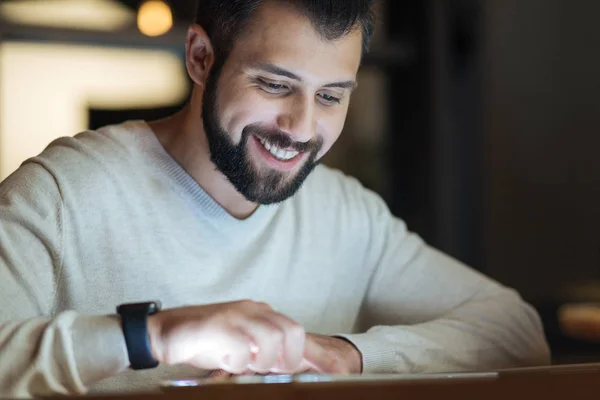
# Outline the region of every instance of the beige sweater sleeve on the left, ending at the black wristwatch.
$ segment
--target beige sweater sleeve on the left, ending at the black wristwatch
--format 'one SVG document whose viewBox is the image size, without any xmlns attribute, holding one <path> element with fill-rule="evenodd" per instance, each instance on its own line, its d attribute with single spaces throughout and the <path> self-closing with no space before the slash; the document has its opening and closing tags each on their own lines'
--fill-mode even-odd
<svg viewBox="0 0 600 400">
<path fill-rule="evenodd" d="M 55 314 L 63 204 L 28 162 L 0 184 L 0 397 L 84 394 L 127 368 L 117 316 Z"/>
</svg>

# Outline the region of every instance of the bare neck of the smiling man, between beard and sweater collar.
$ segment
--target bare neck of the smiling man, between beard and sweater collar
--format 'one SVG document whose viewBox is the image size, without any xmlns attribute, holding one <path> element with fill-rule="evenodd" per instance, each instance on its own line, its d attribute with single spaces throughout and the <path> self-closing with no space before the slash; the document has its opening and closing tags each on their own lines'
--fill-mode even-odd
<svg viewBox="0 0 600 400">
<path fill-rule="evenodd" d="M 210 160 L 208 140 L 200 117 L 188 104 L 163 120 L 150 122 L 159 142 L 198 185 L 234 218 L 245 219 L 258 207 L 242 196 Z"/>
</svg>

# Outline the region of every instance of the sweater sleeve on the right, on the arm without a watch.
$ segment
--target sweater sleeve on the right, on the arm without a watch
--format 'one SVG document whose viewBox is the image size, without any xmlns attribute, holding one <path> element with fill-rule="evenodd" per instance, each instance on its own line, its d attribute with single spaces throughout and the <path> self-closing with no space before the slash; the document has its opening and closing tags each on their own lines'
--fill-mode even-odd
<svg viewBox="0 0 600 400">
<path fill-rule="evenodd" d="M 357 185 L 358 186 L 358 185 Z M 428 246 L 375 194 L 350 201 L 368 220 L 373 273 L 358 334 L 364 373 L 481 371 L 546 365 L 537 312 L 514 290 Z"/>
</svg>

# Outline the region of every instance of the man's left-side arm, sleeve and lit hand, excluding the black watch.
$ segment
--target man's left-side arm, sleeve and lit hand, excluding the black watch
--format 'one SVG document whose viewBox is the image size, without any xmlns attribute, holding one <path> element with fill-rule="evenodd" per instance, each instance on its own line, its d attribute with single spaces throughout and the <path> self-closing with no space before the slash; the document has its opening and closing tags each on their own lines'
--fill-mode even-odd
<svg viewBox="0 0 600 400">
<path fill-rule="evenodd" d="M 0 397 L 85 394 L 129 366 L 118 317 L 56 310 L 63 208 L 41 164 L 25 164 L 0 184 Z M 253 301 L 163 310 L 148 319 L 148 335 L 161 364 L 231 373 L 294 371 L 306 336 Z"/>
</svg>

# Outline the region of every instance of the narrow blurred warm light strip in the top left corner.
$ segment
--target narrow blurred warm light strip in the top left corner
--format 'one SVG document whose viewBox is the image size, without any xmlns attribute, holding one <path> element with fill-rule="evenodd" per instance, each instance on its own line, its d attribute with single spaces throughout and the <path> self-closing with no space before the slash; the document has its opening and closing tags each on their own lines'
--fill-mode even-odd
<svg viewBox="0 0 600 400">
<path fill-rule="evenodd" d="M 114 31 L 135 23 L 135 13 L 114 0 L 0 1 L 0 15 L 23 25 Z"/>
</svg>

